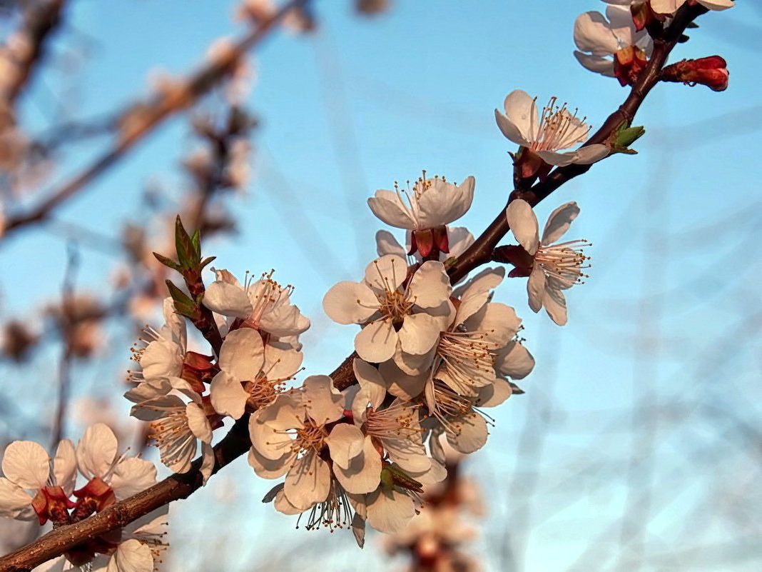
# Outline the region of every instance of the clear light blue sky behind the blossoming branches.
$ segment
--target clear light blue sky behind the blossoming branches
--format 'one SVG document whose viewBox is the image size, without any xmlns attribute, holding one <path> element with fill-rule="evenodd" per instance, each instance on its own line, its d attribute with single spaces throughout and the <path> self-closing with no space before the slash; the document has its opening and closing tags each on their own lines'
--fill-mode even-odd
<svg viewBox="0 0 762 572">
<path fill-rule="evenodd" d="M 187 72 L 214 38 L 242 31 L 232 5 L 76 3 L 65 39 L 87 55 L 77 75 L 37 82 L 27 121 L 50 121 L 56 107 L 97 115 L 145 95 L 146 70 Z M 576 16 L 604 8 L 595 0 L 408 0 L 361 19 L 347 2 L 317 2 L 316 34 L 277 34 L 258 50 L 248 101 L 261 118 L 254 178 L 248 194 L 232 201 L 239 235 L 208 243 L 207 253 L 232 272 L 276 268 L 280 281 L 296 285 L 293 299 L 313 324 L 303 336 L 306 374 L 331 371 L 351 351 L 354 329 L 331 323 L 321 300 L 335 282 L 359 278 L 375 254 L 373 236 L 383 226 L 365 201 L 376 188 L 417 178 L 421 169 L 456 180 L 475 175 L 474 204 L 459 224 L 477 234 L 510 191 L 507 151 L 514 147 L 493 116 L 508 92 L 521 88 L 540 101 L 557 95 L 594 126 L 623 101 L 616 81 L 582 69 L 571 55 Z M 760 425 L 760 24 L 754 2 L 701 18 L 673 59 L 724 56 L 728 90 L 659 85 L 636 119 L 646 129 L 639 155 L 595 165 L 537 208 L 544 220 L 559 204 L 578 202 L 569 236 L 594 243 L 594 266 L 588 283 L 568 293 L 562 328 L 531 312 L 523 280 L 496 294 L 524 318 L 537 367 L 523 383 L 527 394 L 498 408 L 491 440 L 470 465 L 490 506 L 489 570 L 755 569 L 753 559 L 730 555 L 744 554 L 739 529 L 760 532 L 758 519 L 747 526 L 731 510 L 746 499 L 758 514 L 760 503 L 744 489 L 759 477 L 758 459 L 755 465 L 744 433 L 734 429 L 740 421 Z M 67 86 L 69 97 L 54 104 L 50 93 Z M 184 120 L 169 121 L 60 218 L 113 233 L 125 217 L 140 217 L 136 198 L 146 182 L 178 192 L 189 144 Z M 62 172 L 84 164 L 98 145 L 80 149 Z M 66 250 L 55 236 L 24 233 L 0 259 L 3 309 L 11 313 L 58 288 Z M 108 265 L 107 256 L 88 252 L 81 283 L 99 288 Z M 101 380 L 97 390 L 109 388 Z M 645 461 L 632 463 L 633 455 Z M 264 548 L 273 549 L 274 539 L 301 541 L 291 519 L 259 505 L 270 484 L 239 465 L 198 494 L 212 507 L 205 514 L 223 513 L 223 532 L 229 513 L 245 519 L 248 543 L 270 531 Z M 251 487 L 252 500 L 224 504 L 227 487 Z M 715 489 L 725 496 L 706 506 Z M 194 503 L 185 504 L 178 522 L 197 518 Z M 638 506 L 647 525 L 634 535 L 635 548 L 623 548 L 620 516 Z M 197 522 L 175 534 L 194 541 L 199 531 Z M 348 538 L 326 536 L 320 541 L 336 551 L 338 569 L 358 562 L 381 569 L 372 551 L 347 551 Z M 729 548 L 716 548 L 728 541 Z M 498 558 L 501 545 L 511 558 Z M 597 552 L 585 555 L 591 546 Z M 345 552 L 354 564 L 341 564 Z M 628 558 L 642 553 L 651 560 L 637 568 Z"/>
</svg>

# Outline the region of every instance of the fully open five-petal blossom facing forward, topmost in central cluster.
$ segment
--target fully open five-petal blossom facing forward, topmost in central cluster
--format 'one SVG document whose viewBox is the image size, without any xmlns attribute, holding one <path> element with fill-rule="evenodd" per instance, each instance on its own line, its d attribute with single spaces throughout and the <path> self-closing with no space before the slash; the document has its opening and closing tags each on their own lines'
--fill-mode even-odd
<svg viewBox="0 0 762 572">
<path fill-rule="evenodd" d="M 323 298 L 331 320 L 363 325 L 354 346 L 367 362 L 386 362 L 398 344 L 405 354 L 424 354 L 447 325 L 452 288 L 443 264 L 424 262 L 407 280 L 405 260 L 386 255 L 367 265 L 362 282 L 339 282 Z"/>
</svg>

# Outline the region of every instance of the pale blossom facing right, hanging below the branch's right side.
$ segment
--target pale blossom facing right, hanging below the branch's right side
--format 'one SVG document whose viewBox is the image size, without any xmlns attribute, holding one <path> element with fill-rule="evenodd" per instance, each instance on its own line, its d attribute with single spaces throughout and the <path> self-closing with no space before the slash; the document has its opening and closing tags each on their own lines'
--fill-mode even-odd
<svg viewBox="0 0 762 572">
<path fill-rule="evenodd" d="M 527 293 L 529 305 L 534 312 L 543 306 L 549 317 L 559 326 L 566 323 L 566 299 L 563 290 L 574 284 L 581 284 L 589 259 L 582 252 L 589 246 L 585 240 L 572 240 L 552 244 L 563 236 L 577 218 L 579 207 L 576 203 L 566 203 L 555 209 L 548 218 L 540 240 L 537 217 L 527 201 L 512 201 L 505 210 L 508 224 L 514 237 L 529 255 L 527 262 L 516 262 L 517 268 L 511 276 L 529 276 Z"/>
</svg>

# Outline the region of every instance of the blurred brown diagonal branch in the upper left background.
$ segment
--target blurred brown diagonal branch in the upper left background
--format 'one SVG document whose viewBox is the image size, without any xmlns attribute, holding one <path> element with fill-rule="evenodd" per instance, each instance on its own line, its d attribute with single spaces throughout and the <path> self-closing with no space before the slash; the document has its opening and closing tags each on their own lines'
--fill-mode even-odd
<svg viewBox="0 0 762 572">
<path fill-rule="evenodd" d="M 122 133 L 119 140 L 114 143 L 112 149 L 101 155 L 78 175 L 75 175 L 66 184 L 62 185 L 56 191 L 50 194 L 37 207 L 26 214 L 14 217 L 8 217 L 5 224 L 5 235 L 8 236 L 14 230 L 30 223 L 37 223 L 45 220 L 51 212 L 72 198 L 79 191 L 82 191 L 86 185 L 103 174 L 111 165 L 114 165 L 119 159 L 126 155 L 136 143 L 144 139 L 146 135 L 152 132 L 159 124 L 162 124 L 172 114 L 182 111 L 190 106 L 197 98 L 205 95 L 220 81 L 222 81 L 233 69 L 242 56 L 255 47 L 261 40 L 267 37 L 267 34 L 276 24 L 280 23 L 283 17 L 293 8 L 299 8 L 305 5 L 309 0 L 291 0 L 283 8 L 280 8 L 271 18 L 261 21 L 259 26 L 243 37 L 238 43 L 235 43 L 208 63 L 198 72 L 196 72 L 187 82 L 181 84 L 180 88 L 171 92 L 159 95 L 152 101 L 143 104 L 133 105 L 126 113 L 122 115 L 119 123 L 122 125 Z M 126 126 L 133 125 L 129 130 Z"/>
</svg>

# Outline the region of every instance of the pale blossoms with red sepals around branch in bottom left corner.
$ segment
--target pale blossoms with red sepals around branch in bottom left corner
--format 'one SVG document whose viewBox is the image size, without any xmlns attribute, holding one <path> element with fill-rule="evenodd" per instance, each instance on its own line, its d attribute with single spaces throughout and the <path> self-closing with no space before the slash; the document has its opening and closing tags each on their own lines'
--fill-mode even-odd
<svg viewBox="0 0 762 572">
<path fill-rule="evenodd" d="M 54 526 L 80 522 L 156 482 L 150 461 L 117 453 L 114 432 L 96 423 L 75 447 L 63 439 L 50 458 L 34 441 L 14 441 L 2 459 L 0 516 L 50 520 Z M 77 474 L 87 481 L 76 487 Z M 72 499 L 73 497 L 73 499 Z M 87 567 L 108 572 L 152 572 L 167 548 L 168 507 L 163 506 L 123 529 L 91 538 L 35 570 Z"/>
</svg>

